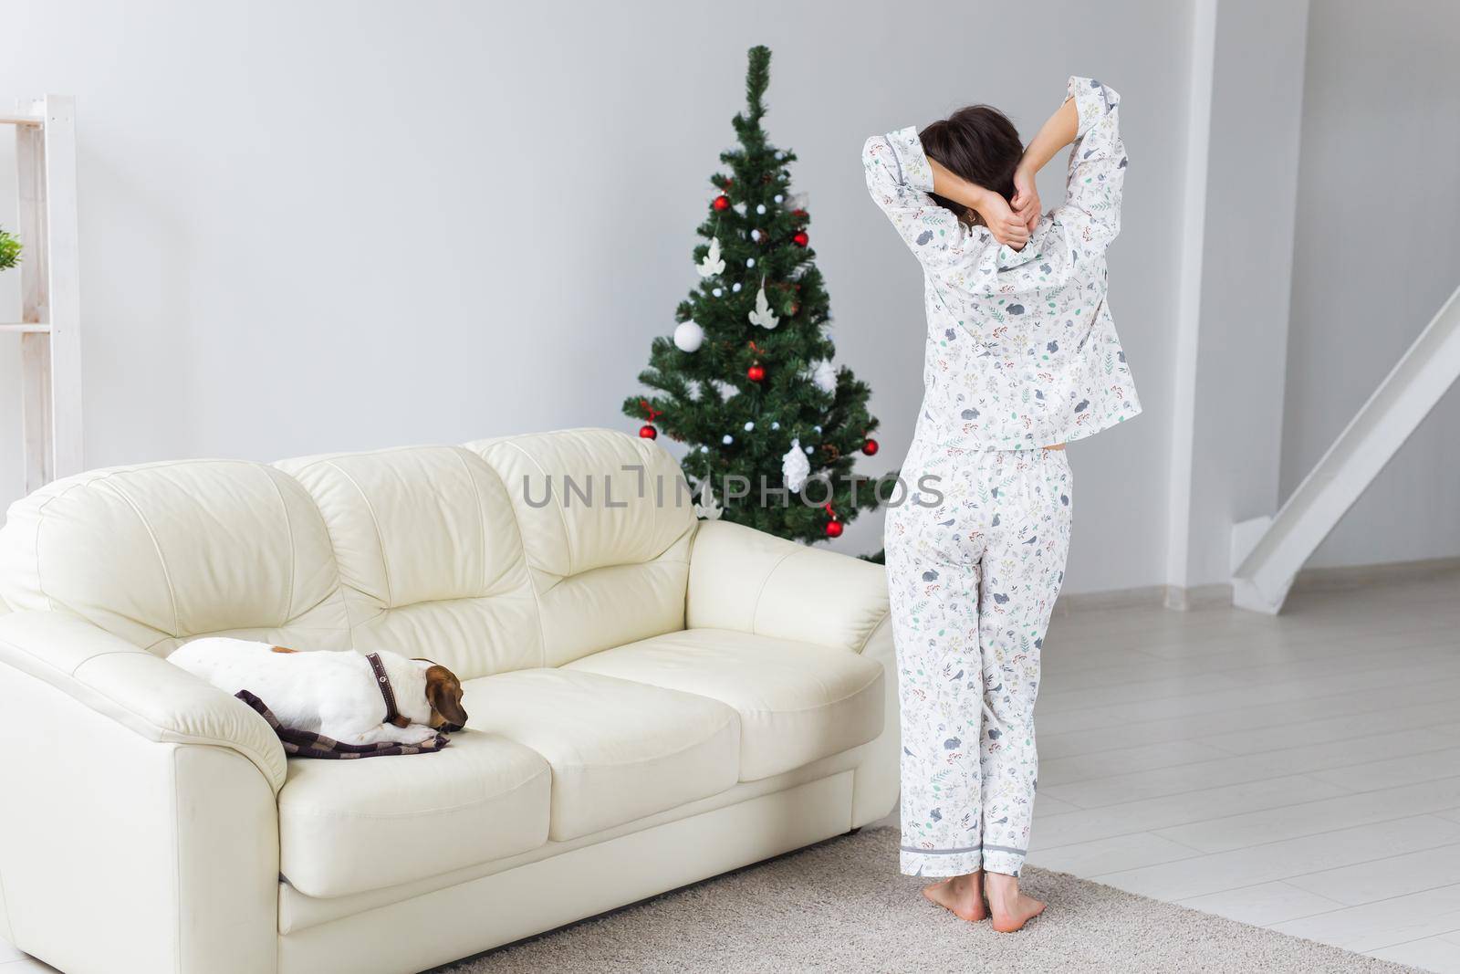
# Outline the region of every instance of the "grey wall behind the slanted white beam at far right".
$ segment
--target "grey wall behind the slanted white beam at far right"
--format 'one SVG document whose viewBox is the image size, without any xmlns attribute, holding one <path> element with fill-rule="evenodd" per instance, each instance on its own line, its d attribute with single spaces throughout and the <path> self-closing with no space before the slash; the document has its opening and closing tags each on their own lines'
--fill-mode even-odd
<svg viewBox="0 0 1460 974">
<path fill-rule="evenodd" d="M 1283 496 L 1460 285 L 1460 6 L 1314 3 L 1288 334 Z M 1314 565 L 1460 555 L 1454 388 Z"/>
</svg>

